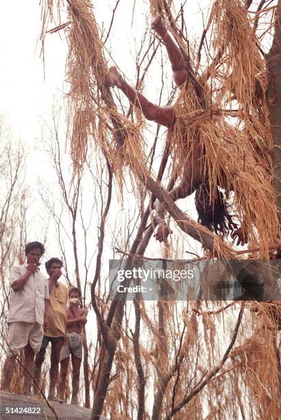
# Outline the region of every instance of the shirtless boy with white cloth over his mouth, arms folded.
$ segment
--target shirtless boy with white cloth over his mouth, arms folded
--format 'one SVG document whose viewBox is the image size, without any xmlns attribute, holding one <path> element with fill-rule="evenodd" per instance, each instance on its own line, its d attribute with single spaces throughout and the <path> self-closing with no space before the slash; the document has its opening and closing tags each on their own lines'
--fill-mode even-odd
<svg viewBox="0 0 281 420">
<path fill-rule="evenodd" d="M 72 397 L 71 404 L 78 404 L 77 393 L 79 390 L 80 366 L 83 354 L 82 328 L 87 322 L 87 310 L 79 307 L 81 292 L 77 288 L 69 290 L 69 307 L 66 312 L 66 345 L 60 352 L 60 397 L 64 399 L 65 382 L 69 357 L 72 362 Z"/>
</svg>

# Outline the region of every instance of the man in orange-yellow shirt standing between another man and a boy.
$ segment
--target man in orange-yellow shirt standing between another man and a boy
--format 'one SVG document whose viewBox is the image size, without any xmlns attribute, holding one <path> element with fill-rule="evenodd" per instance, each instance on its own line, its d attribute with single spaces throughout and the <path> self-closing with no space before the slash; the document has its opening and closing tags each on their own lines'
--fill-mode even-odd
<svg viewBox="0 0 281 420">
<path fill-rule="evenodd" d="M 44 338 L 39 353 L 35 358 L 34 377 L 40 383 L 40 373 L 42 362 L 49 342 L 51 342 L 51 369 L 50 369 L 50 388 L 49 397 L 52 401 L 60 401 L 55 397 L 56 382 L 58 378 L 58 363 L 60 362 L 60 349 L 66 339 L 66 303 L 68 290 L 58 279 L 62 275 L 62 261 L 58 258 L 51 258 L 45 264 L 49 275 L 49 295 L 47 304 L 47 316 L 44 329 Z M 38 395 L 39 390 L 34 384 L 34 395 Z M 60 401 L 61 402 L 61 401 Z"/>
</svg>

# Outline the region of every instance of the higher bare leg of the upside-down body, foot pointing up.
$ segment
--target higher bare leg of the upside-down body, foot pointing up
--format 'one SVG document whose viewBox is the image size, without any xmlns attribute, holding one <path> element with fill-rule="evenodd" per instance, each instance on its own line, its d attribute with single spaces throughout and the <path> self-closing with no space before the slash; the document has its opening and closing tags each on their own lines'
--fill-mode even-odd
<svg viewBox="0 0 281 420">
<path fill-rule="evenodd" d="M 186 68 L 186 62 L 180 52 L 178 45 L 175 43 L 167 28 L 162 22 L 161 16 L 156 16 L 151 22 L 151 29 L 154 30 L 163 40 L 171 66 L 173 70 L 173 78 L 178 86 L 182 86 L 186 80 L 188 80 L 188 71 Z"/>
</svg>

